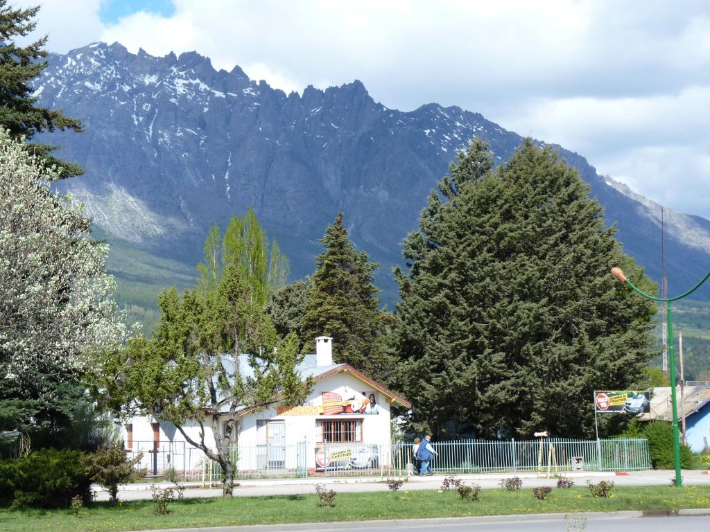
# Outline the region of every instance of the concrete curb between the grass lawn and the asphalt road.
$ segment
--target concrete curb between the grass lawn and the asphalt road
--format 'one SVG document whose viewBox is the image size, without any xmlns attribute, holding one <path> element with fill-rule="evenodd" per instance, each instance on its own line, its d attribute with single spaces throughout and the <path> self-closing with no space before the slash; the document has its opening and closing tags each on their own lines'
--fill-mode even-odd
<svg viewBox="0 0 710 532">
<path fill-rule="evenodd" d="M 657 516 L 704 516 L 710 515 L 710 509 L 701 509 L 705 513 L 684 513 L 696 512 L 695 510 L 679 510 L 675 514 L 672 510 L 670 514 L 662 514 Z M 281 532 L 281 531 L 337 531 L 342 530 L 344 526 L 351 525 L 350 528 L 364 528 L 366 526 L 390 526 L 391 528 L 407 528 L 422 527 L 427 525 L 441 525 L 451 523 L 452 525 L 481 525 L 481 524 L 505 524 L 505 523 L 520 523 L 521 521 L 564 521 L 568 516 L 572 516 L 571 512 L 567 514 L 511 514 L 506 516 L 479 516 L 479 517 L 445 517 L 434 519 L 382 519 L 378 521 L 333 521 L 331 523 L 287 523 L 278 525 L 245 525 L 245 526 L 215 526 L 202 528 L 165 528 L 160 532 Z M 576 514 L 577 519 L 594 519 L 602 521 L 605 519 L 638 519 L 646 517 L 644 511 L 588 511 Z M 155 532 L 155 531 L 135 531 L 135 532 Z"/>
</svg>

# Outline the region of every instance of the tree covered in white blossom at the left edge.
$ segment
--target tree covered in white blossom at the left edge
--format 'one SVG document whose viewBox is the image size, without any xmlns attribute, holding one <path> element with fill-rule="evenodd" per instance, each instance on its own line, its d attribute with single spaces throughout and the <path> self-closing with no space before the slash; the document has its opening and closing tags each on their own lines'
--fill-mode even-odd
<svg viewBox="0 0 710 532">
<path fill-rule="evenodd" d="M 124 333 L 108 246 L 89 238 L 82 204 L 51 191 L 58 177 L 0 131 L 0 429 L 70 416 L 67 390 L 77 399 L 92 354 Z"/>
</svg>

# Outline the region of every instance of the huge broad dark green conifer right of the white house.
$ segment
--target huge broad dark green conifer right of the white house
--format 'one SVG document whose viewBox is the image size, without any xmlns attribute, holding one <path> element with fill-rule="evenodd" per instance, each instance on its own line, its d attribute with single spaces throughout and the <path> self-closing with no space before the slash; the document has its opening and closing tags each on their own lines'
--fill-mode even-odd
<svg viewBox="0 0 710 532">
<path fill-rule="evenodd" d="M 549 148 L 527 140 L 493 172 L 476 141 L 458 162 L 439 187 L 443 203 L 430 197 L 405 240 L 410 269 L 397 276 L 400 386 L 417 398 L 413 426 L 591 436 L 594 389 L 623 389 L 653 355 L 655 305 L 609 268 L 652 284 Z"/>
</svg>

